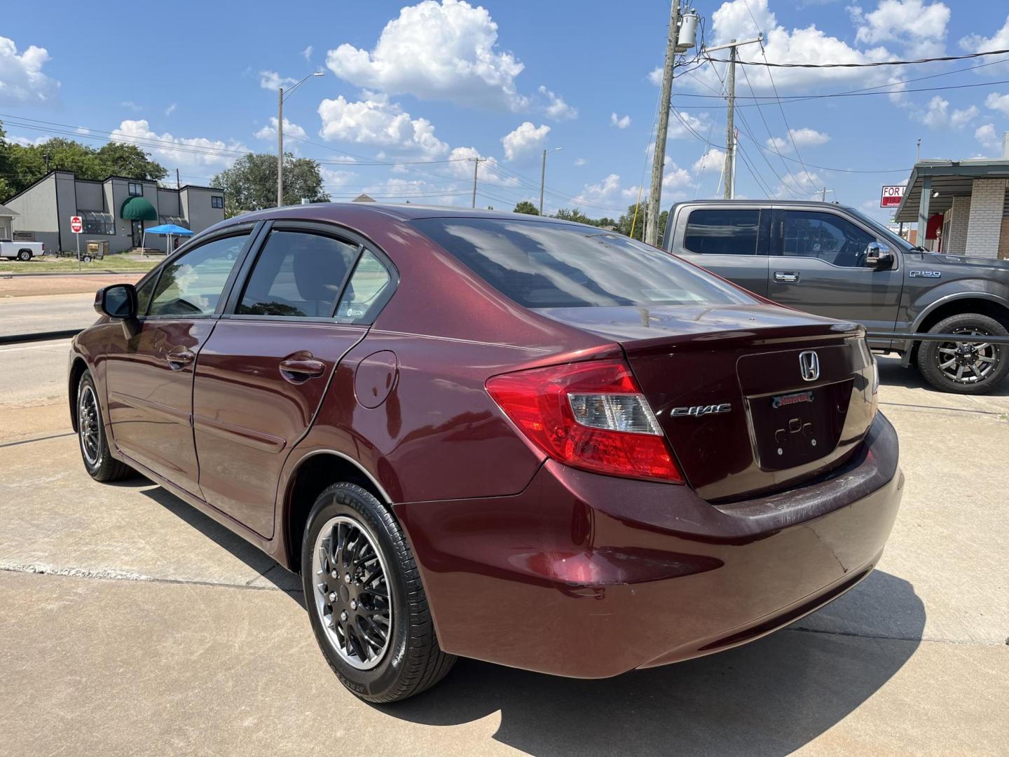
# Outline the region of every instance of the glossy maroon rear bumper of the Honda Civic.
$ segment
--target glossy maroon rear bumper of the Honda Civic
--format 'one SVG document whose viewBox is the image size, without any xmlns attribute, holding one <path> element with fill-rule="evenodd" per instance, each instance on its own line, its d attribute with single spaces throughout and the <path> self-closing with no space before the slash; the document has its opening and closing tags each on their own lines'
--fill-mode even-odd
<svg viewBox="0 0 1009 757">
<path fill-rule="evenodd" d="M 879 559 L 903 489 L 879 415 L 827 480 L 733 505 L 547 462 L 514 497 L 401 504 L 448 652 L 604 677 L 726 649 Z"/>
</svg>

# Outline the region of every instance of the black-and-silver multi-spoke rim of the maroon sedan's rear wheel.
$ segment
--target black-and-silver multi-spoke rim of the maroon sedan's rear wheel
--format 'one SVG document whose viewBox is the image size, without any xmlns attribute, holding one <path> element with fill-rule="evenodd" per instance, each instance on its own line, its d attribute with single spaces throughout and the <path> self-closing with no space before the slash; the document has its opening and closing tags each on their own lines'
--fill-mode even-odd
<svg viewBox="0 0 1009 757">
<path fill-rule="evenodd" d="M 331 518 L 312 556 L 315 608 L 336 653 L 355 668 L 381 662 L 393 636 L 385 561 L 375 537 L 347 516 Z"/>
</svg>

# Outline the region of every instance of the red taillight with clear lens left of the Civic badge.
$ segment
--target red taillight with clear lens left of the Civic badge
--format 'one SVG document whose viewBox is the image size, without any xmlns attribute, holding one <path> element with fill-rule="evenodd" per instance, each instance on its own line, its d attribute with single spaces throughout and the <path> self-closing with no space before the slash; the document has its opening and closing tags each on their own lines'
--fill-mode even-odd
<svg viewBox="0 0 1009 757">
<path fill-rule="evenodd" d="M 503 373 L 488 379 L 486 387 L 530 441 L 555 460 L 598 473 L 683 482 L 623 360 Z"/>
</svg>

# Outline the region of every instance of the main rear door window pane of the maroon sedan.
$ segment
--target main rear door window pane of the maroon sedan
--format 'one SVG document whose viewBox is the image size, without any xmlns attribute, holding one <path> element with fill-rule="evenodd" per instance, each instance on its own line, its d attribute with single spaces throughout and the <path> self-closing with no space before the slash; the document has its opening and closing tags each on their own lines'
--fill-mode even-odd
<svg viewBox="0 0 1009 757">
<path fill-rule="evenodd" d="M 332 318 L 359 251 L 357 244 L 331 236 L 271 231 L 235 312 L 278 318 Z"/>
</svg>

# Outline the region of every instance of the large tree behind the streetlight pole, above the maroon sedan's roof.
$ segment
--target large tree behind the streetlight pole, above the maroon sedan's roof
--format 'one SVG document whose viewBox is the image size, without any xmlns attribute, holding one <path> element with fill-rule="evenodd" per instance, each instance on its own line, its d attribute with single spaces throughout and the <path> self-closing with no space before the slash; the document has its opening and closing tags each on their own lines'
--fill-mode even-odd
<svg viewBox="0 0 1009 757">
<path fill-rule="evenodd" d="M 276 155 L 249 152 L 230 169 L 214 177 L 213 185 L 224 190 L 224 215 L 230 218 L 245 210 L 261 210 L 276 205 Z M 284 203 L 294 205 L 302 198 L 309 202 L 329 202 L 323 189 L 319 164 L 308 157 L 284 154 Z"/>
</svg>

